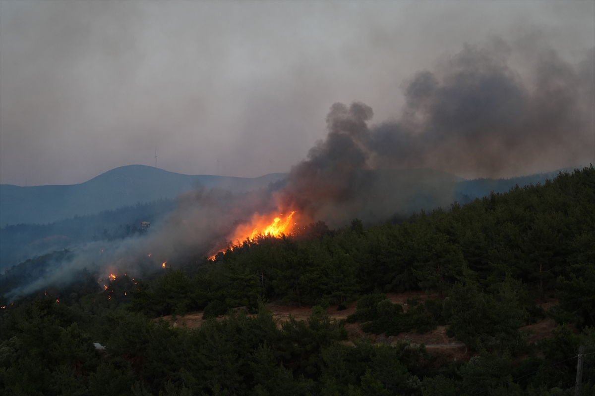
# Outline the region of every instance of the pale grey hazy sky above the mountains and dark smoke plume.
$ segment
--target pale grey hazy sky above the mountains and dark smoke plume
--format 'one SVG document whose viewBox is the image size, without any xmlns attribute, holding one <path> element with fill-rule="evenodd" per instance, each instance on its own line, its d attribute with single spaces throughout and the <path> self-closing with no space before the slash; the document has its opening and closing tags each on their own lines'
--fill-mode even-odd
<svg viewBox="0 0 595 396">
<path fill-rule="evenodd" d="M 493 37 L 521 76 L 535 47 L 579 62 L 595 2 L 0 1 L 0 183 L 80 183 L 155 149 L 172 172 L 287 172 L 333 103 L 397 118 L 416 72 Z"/>
</svg>

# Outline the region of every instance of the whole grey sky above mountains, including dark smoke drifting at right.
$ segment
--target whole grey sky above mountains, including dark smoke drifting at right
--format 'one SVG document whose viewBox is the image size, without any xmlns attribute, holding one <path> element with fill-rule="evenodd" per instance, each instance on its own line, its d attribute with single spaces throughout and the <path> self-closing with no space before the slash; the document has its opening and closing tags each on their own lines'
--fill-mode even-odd
<svg viewBox="0 0 595 396">
<path fill-rule="evenodd" d="M 172 172 L 288 172 L 336 102 L 373 109 L 329 115 L 368 122 L 372 167 L 581 166 L 594 47 L 593 1 L 3 0 L 0 183 L 84 182 L 155 150 Z"/>
</svg>

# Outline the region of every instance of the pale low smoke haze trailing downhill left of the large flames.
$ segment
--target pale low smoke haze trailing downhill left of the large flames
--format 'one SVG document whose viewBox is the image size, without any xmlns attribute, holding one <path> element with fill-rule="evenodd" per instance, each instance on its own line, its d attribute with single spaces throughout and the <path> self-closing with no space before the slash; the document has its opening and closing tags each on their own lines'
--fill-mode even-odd
<svg viewBox="0 0 595 396">
<path fill-rule="evenodd" d="M 169 268 L 176 259 L 205 256 L 214 248 L 227 246 L 237 224 L 249 220 L 254 211 L 271 209 L 271 194 L 265 189 L 237 194 L 198 189 L 183 194 L 177 210 L 151 224 L 145 235 L 77 246 L 71 249 L 71 259 L 49 262 L 45 276 L 11 290 L 7 298 L 67 285 L 83 268 L 104 279 L 111 273 L 126 272 L 131 277 L 155 274 L 162 271 L 163 262 L 168 262 Z"/>
</svg>

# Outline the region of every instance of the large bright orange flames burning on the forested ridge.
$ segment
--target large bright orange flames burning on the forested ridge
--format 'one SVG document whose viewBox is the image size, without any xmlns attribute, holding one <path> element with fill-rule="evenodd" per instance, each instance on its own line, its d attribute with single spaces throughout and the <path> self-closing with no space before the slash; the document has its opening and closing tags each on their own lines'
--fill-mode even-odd
<svg viewBox="0 0 595 396">
<path fill-rule="evenodd" d="M 233 243 L 240 243 L 246 239 L 253 240 L 259 236 L 273 236 L 279 238 L 283 235 L 289 235 L 292 232 L 293 226 L 295 226 L 295 223 L 292 223 L 294 214 L 295 211 L 292 211 L 292 213 L 290 213 L 284 220 L 281 219 L 283 214 L 280 214 L 280 216 L 274 217 L 272 221 L 270 215 L 261 216 L 259 214 L 254 214 L 250 223 L 240 224 L 240 226 L 236 228 L 236 232 L 234 232 L 233 237 L 231 237 L 232 244 L 218 252 L 224 252 L 226 249 L 233 250 Z M 215 255 L 216 254 L 211 255 L 209 259 L 214 259 Z"/>
</svg>

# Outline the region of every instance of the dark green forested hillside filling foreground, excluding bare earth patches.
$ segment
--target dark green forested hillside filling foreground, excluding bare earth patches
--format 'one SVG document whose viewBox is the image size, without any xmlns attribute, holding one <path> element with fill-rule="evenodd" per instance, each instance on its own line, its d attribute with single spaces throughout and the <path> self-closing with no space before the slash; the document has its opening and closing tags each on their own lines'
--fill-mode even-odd
<svg viewBox="0 0 595 396">
<path fill-rule="evenodd" d="M 571 395 L 580 344 L 582 394 L 595 391 L 592 166 L 398 224 L 316 223 L 170 266 L 99 283 L 82 271 L 64 289 L 2 300 L 4 394 Z M 406 311 L 386 298 L 419 290 L 436 297 Z M 544 310 L 546 299 L 559 303 Z M 314 308 L 307 322 L 278 324 L 268 301 Z M 345 322 L 325 309 L 353 301 L 347 322 L 369 334 L 447 325 L 472 357 L 346 342 Z M 156 319 L 192 311 L 202 327 Z M 552 337 L 519 330 L 546 317 Z"/>
</svg>

